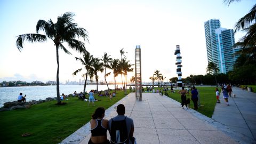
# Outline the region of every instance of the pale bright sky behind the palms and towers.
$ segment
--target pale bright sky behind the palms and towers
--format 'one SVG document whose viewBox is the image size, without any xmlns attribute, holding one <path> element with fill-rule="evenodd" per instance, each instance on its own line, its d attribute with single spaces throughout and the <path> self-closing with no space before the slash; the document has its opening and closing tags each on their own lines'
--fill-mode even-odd
<svg viewBox="0 0 256 144">
<path fill-rule="evenodd" d="M 180 45 L 182 77 L 205 75 L 207 66 L 204 22 L 220 19 L 221 27 L 234 29 L 235 23 L 248 13 L 255 1 L 241 1 L 231 5 L 222 0 L 0 0 L 0 82 L 56 81 L 57 61 L 51 39 L 45 43 L 23 44 L 17 49 L 17 36 L 36 33 L 38 20 L 57 22 L 58 16 L 73 12 L 74 22 L 89 33 L 86 50 L 101 58 L 107 52 L 120 59 L 124 48 L 127 60 L 134 63 L 135 46 L 141 46 L 142 82 L 159 70 L 167 79 L 176 77 L 176 45 Z M 42 31 L 39 32 L 43 34 Z M 235 34 L 237 42 L 244 33 Z M 82 39 L 81 39 L 82 40 Z M 79 81 L 80 73 L 72 73 L 83 66 L 75 57 L 81 54 L 66 47 L 72 55 L 59 52 L 60 82 Z M 85 73 L 85 71 L 83 71 Z M 111 70 L 107 70 L 107 73 Z M 129 73 L 127 78 L 134 76 Z M 103 74 L 100 74 L 103 80 Z M 117 78 L 121 81 L 121 77 Z M 113 74 L 107 81 L 114 81 Z"/>
</svg>

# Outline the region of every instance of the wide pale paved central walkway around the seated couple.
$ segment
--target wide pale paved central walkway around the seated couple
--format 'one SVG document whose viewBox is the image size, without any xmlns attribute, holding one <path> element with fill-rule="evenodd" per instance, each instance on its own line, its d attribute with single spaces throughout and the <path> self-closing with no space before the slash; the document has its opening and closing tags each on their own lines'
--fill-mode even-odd
<svg viewBox="0 0 256 144">
<path fill-rule="evenodd" d="M 125 105 L 125 115 L 133 118 L 137 143 L 253 143 L 193 109 L 181 109 L 179 102 L 158 93 L 142 93 L 142 101 L 135 101 L 135 93 L 130 93 L 108 108 L 105 118 L 117 115 L 119 103 Z M 61 143 L 87 143 L 90 135 L 87 123 Z"/>
</svg>

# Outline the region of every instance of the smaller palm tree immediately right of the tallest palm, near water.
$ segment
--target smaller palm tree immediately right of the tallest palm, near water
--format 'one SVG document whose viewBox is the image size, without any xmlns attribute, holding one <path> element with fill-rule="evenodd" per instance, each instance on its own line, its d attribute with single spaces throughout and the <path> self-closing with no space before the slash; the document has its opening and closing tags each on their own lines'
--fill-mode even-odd
<svg viewBox="0 0 256 144">
<path fill-rule="evenodd" d="M 86 73 L 83 74 L 82 76 L 85 77 L 84 79 L 84 92 L 86 89 L 86 83 L 87 83 L 87 76 L 89 74 L 90 76 L 90 80 L 92 81 L 92 77 L 93 77 L 93 67 L 92 67 L 92 63 L 93 63 L 93 55 L 90 54 L 90 52 L 84 52 L 83 53 L 83 59 L 82 58 L 77 58 L 75 57 L 76 60 L 79 60 L 82 65 L 84 66 Z M 72 75 L 76 75 L 78 72 L 82 71 L 83 68 L 79 68 L 76 71 L 74 71 L 74 73 Z"/>
</svg>

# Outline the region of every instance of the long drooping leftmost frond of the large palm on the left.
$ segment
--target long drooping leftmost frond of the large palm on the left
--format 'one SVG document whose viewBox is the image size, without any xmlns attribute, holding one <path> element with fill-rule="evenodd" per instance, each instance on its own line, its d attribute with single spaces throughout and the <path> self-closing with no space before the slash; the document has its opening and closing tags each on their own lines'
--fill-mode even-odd
<svg viewBox="0 0 256 144">
<path fill-rule="evenodd" d="M 23 49 L 23 43 L 25 41 L 28 41 L 30 43 L 35 43 L 35 42 L 46 42 L 47 37 L 45 35 L 41 35 L 41 34 L 23 34 L 23 35 L 19 35 L 17 36 L 17 41 L 16 41 L 16 46 L 18 48 L 18 50 L 20 51 L 21 49 Z"/>
</svg>

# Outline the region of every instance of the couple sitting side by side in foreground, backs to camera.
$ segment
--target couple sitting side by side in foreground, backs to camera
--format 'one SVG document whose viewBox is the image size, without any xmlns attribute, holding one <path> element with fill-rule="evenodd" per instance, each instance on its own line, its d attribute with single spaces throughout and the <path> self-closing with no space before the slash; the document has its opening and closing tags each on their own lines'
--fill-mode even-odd
<svg viewBox="0 0 256 144">
<path fill-rule="evenodd" d="M 103 119 L 105 116 L 105 109 L 99 107 L 95 110 L 92 115 L 91 123 L 91 139 L 90 143 L 134 143 L 135 138 L 133 137 L 134 125 L 133 120 L 126 117 L 125 107 L 120 104 L 117 106 L 117 116 L 114 118 Z M 107 139 L 107 130 L 110 134 L 110 141 Z"/>
</svg>

